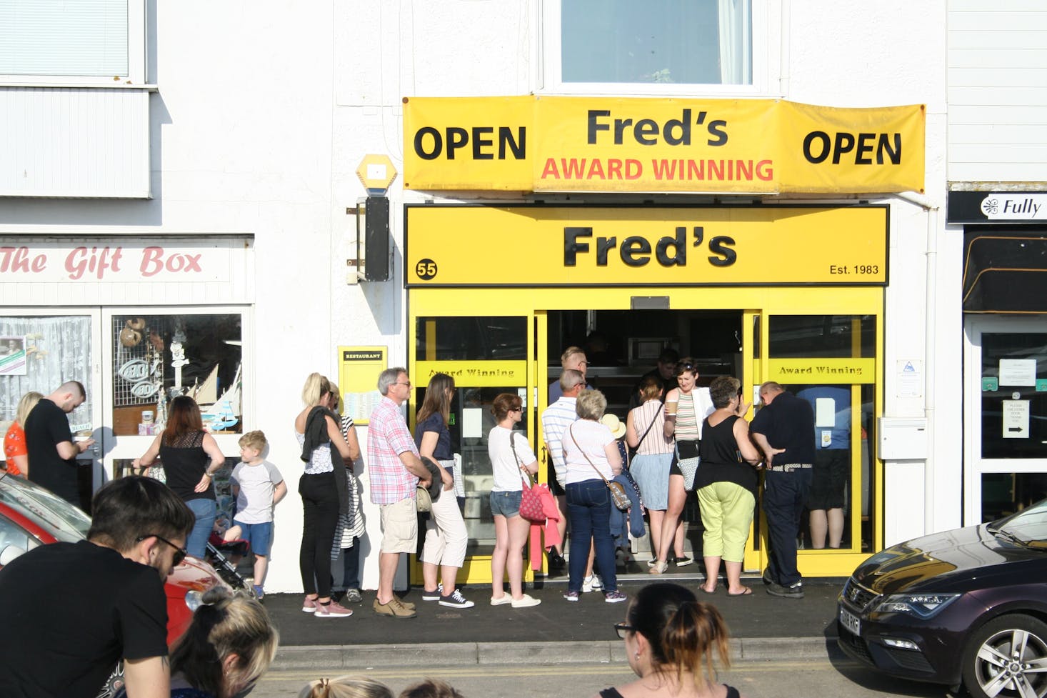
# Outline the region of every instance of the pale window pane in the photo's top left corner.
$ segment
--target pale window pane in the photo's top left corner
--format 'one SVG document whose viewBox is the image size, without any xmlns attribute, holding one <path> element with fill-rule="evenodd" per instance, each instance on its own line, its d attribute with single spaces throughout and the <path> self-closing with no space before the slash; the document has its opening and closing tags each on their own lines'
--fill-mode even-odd
<svg viewBox="0 0 1047 698">
<path fill-rule="evenodd" d="M 128 72 L 128 0 L 0 0 L 0 74 Z"/>
</svg>

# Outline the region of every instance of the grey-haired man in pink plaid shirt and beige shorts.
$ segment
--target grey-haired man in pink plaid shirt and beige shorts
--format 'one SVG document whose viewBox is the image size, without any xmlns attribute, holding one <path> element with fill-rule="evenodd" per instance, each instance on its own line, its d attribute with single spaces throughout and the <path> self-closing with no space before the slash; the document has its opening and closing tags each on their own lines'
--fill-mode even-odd
<svg viewBox="0 0 1047 698">
<path fill-rule="evenodd" d="M 401 602 L 393 593 L 393 577 L 400 554 L 417 549 L 415 489 L 419 483 L 428 485 L 430 475 L 419 458 L 415 439 L 400 412 L 400 406 L 410 397 L 407 370 L 397 367 L 382 371 L 378 376 L 378 392 L 384 397 L 371 413 L 367 424 L 371 502 L 378 504 L 382 518 L 378 596 L 374 609 L 379 615 L 414 618 L 415 605 Z"/>
</svg>

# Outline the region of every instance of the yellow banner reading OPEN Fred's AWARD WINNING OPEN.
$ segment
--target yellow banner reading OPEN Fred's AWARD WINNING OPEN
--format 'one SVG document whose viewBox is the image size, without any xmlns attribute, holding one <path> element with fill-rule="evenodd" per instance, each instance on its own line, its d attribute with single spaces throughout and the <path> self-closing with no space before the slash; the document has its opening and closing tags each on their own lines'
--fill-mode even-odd
<svg viewBox="0 0 1047 698">
<path fill-rule="evenodd" d="M 524 192 L 923 191 L 922 105 L 411 97 L 404 187 Z"/>
</svg>

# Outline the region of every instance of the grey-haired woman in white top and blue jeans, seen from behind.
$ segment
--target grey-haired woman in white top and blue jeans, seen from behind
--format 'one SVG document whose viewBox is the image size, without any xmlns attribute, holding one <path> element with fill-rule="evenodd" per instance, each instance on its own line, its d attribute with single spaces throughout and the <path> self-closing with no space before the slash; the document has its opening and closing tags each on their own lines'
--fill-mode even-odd
<svg viewBox="0 0 1047 698">
<path fill-rule="evenodd" d="M 563 597 L 576 602 L 582 590 L 589 541 L 596 549 L 596 564 L 603 576 L 604 601 L 625 601 L 618 590 L 615 569 L 615 541 L 610 537 L 610 507 L 615 506 L 608 480 L 622 472 L 622 456 L 614 434 L 600 422 L 607 398 L 599 390 L 578 394 L 578 420 L 563 435 L 566 462 L 567 516 L 571 520 L 570 581 Z M 623 492 L 624 495 L 624 492 Z"/>
</svg>

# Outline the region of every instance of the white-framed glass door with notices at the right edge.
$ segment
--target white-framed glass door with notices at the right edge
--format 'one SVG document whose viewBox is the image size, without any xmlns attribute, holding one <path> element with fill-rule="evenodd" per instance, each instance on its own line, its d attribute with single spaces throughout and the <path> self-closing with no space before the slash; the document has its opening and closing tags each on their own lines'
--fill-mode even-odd
<svg viewBox="0 0 1047 698">
<path fill-rule="evenodd" d="M 1047 497 L 1047 328 L 1040 318 L 964 323 L 964 525 Z"/>
</svg>

